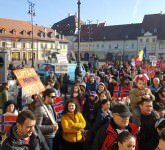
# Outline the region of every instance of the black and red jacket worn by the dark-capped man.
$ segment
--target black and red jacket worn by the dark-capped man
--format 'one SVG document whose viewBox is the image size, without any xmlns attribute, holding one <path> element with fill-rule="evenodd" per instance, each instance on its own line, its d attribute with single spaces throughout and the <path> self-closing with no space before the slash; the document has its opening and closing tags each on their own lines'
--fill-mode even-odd
<svg viewBox="0 0 165 150">
<path fill-rule="evenodd" d="M 112 146 L 117 138 L 117 125 L 114 123 L 113 119 L 110 123 L 102 126 L 96 133 L 92 150 L 106 150 Z M 126 129 L 131 132 L 135 137 L 137 137 L 137 133 L 139 131 L 139 126 L 129 123 Z M 136 140 L 136 150 L 138 150 L 138 141 Z"/>
</svg>

